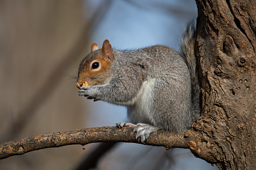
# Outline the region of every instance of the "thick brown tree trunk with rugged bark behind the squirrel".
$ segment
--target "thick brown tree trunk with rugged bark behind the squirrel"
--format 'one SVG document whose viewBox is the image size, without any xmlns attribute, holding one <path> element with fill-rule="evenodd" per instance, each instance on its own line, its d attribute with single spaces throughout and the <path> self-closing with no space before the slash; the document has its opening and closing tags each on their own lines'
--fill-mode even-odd
<svg viewBox="0 0 256 170">
<path fill-rule="evenodd" d="M 190 148 L 220 169 L 256 169 L 256 2 L 196 3 L 202 117 L 192 127 L 201 146 Z"/>
</svg>

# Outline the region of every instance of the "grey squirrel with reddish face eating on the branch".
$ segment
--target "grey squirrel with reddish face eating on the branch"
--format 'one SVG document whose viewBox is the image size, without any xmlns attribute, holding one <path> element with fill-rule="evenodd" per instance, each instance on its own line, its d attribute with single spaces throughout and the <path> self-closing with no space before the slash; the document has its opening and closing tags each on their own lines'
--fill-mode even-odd
<svg viewBox="0 0 256 170">
<path fill-rule="evenodd" d="M 190 129 L 201 114 L 194 25 L 185 27 L 180 53 L 162 45 L 119 51 L 108 40 L 102 49 L 94 43 L 79 65 L 79 95 L 126 106 L 129 123 L 116 125 L 135 126 L 142 143 L 158 129 Z M 81 87 L 85 82 L 90 86 Z"/>
</svg>

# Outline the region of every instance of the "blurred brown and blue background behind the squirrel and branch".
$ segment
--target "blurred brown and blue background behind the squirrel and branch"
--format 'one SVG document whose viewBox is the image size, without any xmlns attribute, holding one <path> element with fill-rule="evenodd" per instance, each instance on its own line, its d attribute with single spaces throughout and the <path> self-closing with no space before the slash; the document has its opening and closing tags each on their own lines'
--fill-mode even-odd
<svg viewBox="0 0 256 170">
<path fill-rule="evenodd" d="M 80 60 L 105 39 L 119 50 L 178 50 L 186 22 L 196 17 L 194 0 L 0 1 L 0 143 L 125 121 L 125 108 L 78 96 Z M 70 145 L 0 160 L 0 169 L 217 169 L 189 149 L 164 150 Z M 88 168 L 88 161 L 97 163 Z"/>
</svg>

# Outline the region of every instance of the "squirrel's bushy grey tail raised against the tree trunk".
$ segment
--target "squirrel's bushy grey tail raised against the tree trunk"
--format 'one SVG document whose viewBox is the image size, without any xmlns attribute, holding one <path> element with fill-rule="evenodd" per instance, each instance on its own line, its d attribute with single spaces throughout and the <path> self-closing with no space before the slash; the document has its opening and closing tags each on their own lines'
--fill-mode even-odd
<svg viewBox="0 0 256 170">
<path fill-rule="evenodd" d="M 196 69 L 196 57 L 194 53 L 196 40 L 196 28 L 195 22 L 191 21 L 185 27 L 181 38 L 180 55 L 184 58 L 187 63 L 191 79 L 192 79 L 192 116 L 193 119 L 197 118 L 201 114 L 200 109 L 200 85 L 198 80 L 198 72 Z"/>
</svg>

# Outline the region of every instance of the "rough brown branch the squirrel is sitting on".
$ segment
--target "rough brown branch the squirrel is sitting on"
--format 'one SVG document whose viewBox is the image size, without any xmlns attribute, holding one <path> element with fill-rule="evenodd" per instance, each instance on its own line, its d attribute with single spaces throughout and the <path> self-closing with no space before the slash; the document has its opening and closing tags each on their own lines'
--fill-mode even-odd
<svg viewBox="0 0 256 170">
<path fill-rule="evenodd" d="M 9 141 L 1 144 L 0 159 L 24 154 L 33 150 L 61 147 L 71 144 L 85 145 L 95 142 L 141 143 L 140 140 L 135 139 L 133 129 L 134 127 L 94 127 L 74 131 L 34 135 L 18 141 Z M 190 130 L 181 134 L 172 131 L 157 130 L 150 134 L 144 144 L 164 146 L 166 150 L 173 147 L 189 148 L 189 142 L 191 141 L 188 141 L 189 138 L 186 137 L 186 134 L 189 134 L 188 132 L 190 132 Z"/>
</svg>

